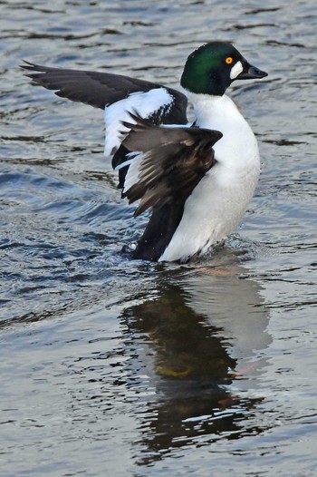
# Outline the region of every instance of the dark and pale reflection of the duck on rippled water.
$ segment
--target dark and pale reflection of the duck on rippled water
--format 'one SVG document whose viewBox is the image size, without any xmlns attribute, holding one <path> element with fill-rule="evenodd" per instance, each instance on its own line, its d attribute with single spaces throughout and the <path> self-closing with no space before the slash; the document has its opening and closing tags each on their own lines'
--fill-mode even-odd
<svg viewBox="0 0 317 477">
<path fill-rule="evenodd" d="M 271 336 L 260 287 L 243 279 L 243 272 L 235 267 L 200 268 L 172 279 L 169 274 L 156 299 L 124 312 L 138 350 L 130 361 L 130 383 L 138 385 L 138 375 L 148 379 L 142 443 L 136 444 L 145 447 L 140 464 L 187 443 L 261 431 L 246 421 L 262 401 L 261 350 Z"/>
</svg>

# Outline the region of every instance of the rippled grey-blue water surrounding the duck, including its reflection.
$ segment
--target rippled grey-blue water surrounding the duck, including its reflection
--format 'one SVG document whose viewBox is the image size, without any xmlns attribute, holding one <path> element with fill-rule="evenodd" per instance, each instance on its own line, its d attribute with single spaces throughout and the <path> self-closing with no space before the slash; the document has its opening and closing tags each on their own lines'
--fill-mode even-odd
<svg viewBox="0 0 317 477">
<path fill-rule="evenodd" d="M 0 5 L 1 475 L 314 476 L 314 2 L 51 4 Z M 130 261 L 146 218 L 119 199 L 102 112 L 17 65 L 176 86 L 212 39 L 269 73 L 231 88 L 255 199 L 202 263 Z"/>
</svg>

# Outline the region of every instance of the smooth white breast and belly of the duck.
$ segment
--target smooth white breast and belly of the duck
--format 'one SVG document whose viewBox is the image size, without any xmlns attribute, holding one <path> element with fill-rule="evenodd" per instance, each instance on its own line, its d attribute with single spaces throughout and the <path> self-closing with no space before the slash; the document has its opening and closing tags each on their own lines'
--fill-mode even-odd
<svg viewBox="0 0 317 477">
<path fill-rule="evenodd" d="M 188 197 L 178 229 L 159 259 L 185 259 L 229 235 L 242 219 L 260 173 L 255 135 L 226 95 L 189 96 L 197 125 L 223 133 L 214 146 L 216 165 Z"/>
</svg>

